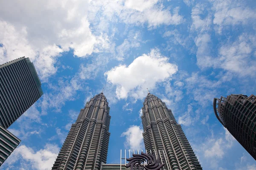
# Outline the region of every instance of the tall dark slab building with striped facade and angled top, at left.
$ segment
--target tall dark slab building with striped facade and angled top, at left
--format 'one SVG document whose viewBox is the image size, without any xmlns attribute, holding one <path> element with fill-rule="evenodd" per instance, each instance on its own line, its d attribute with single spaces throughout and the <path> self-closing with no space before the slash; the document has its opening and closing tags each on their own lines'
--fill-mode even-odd
<svg viewBox="0 0 256 170">
<path fill-rule="evenodd" d="M 38 74 L 29 58 L 0 65 L 0 125 L 8 128 L 41 96 Z"/>
</svg>

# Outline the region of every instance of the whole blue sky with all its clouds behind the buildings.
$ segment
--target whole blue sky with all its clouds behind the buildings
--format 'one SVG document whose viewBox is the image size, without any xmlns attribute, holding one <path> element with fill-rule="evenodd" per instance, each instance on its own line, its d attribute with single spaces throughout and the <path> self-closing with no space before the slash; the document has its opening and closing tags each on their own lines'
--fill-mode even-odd
<svg viewBox="0 0 256 170">
<path fill-rule="evenodd" d="M 29 57 L 44 95 L 9 130 L 0 167 L 49 170 L 86 101 L 105 88 L 108 163 L 143 149 L 147 95 L 172 109 L 204 170 L 256 170 L 216 119 L 214 97 L 255 94 L 254 0 L 0 1 L 0 63 Z"/>
</svg>

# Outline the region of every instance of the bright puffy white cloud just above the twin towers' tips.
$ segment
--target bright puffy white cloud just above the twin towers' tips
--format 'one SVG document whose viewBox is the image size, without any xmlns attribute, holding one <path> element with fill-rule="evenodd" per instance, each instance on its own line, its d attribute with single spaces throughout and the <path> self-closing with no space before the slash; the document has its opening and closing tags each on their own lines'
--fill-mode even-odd
<svg viewBox="0 0 256 170">
<path fill-rule="evenodd" d="M 128 95 L 142 99 L 147 94 L 146 88 L 153 89 L 157 82 L 164 82 L 177 72 L 177 65 L 168 62 L 168 58 L 153 49 L 150 54 L 143 54 L 126 66 L 119 65 L 105 72 L 108 82 L 116 85 L 119 99 Z"/>
</svg>

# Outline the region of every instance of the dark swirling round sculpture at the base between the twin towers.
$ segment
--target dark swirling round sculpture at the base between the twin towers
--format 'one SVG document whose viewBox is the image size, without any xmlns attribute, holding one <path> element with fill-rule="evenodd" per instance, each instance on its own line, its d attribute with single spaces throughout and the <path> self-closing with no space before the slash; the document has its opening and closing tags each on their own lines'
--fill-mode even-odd
<svg viewBox="0 0 256 170">
<path fill-rule="evenodd" d="M 131 170 L 160 170 L 164 164 L 161 164 L 160 158 L 154 156 L 154 154 L 132 154 L 133 157 L 128 158 L 129 163 L 125 167 L 131 167 Z M 148 164 L 144 164 L 148 162 Z"/>
</svg>

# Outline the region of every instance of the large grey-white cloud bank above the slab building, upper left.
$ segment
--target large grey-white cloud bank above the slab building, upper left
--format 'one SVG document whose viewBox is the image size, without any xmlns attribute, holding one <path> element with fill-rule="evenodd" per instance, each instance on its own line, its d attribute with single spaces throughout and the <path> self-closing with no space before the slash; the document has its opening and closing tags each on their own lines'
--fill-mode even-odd
<svg viewBox="0 0 256 170">
<path fill-rule="evenodd" d="M 0 2 L 0 62 L 29 57 L 40 78 L 55 74 L 57 57 L 74 49 L 77 57 L 109 48 L 108 36 L 93 35 L 87 20 L 87 0 L 18 0 Z"/>
</svg>

